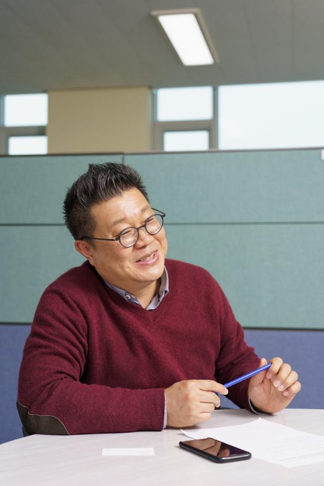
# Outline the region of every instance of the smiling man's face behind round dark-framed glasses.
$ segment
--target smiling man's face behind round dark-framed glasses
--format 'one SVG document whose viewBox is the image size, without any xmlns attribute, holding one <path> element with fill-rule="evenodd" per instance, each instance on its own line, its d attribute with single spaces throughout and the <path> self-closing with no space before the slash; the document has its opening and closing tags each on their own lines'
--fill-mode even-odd
<svg viewBox="0 0 324 486">
<path fill-rule="evenodd" d="M 92 236 L 97 238 L 113 238 L 125 228 L 137 228 L 154 213 L 143 194 L 136 188 L 94 205 L 91 212 L 96 221 Z M 154 235 L 141 228 L 138 240 L 130 248 L 121 246 L 119 241 L 92 242 L 94 245 L 91 246 L 84 242 L 89 253 L 82 253 L 94 265 L 99 275 L 116 287 L 134 293 L 137 289 L 156 282 L 163 274 L 168 249 L 164 228 Z M 146 257 L 150 258 L 140 261 Z"/>
</svg>

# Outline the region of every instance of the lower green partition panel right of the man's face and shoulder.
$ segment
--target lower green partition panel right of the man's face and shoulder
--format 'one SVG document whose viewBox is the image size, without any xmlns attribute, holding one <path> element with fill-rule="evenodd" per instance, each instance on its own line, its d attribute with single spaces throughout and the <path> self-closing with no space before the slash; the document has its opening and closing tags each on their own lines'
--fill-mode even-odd
<svg viewBox="0 0 324 486">
<path fill-rule="evenodd" d="M 324 328 L 324 225 L 166 225 L 169 258 L 208 269 L 247 328 Z"/>
</svg>

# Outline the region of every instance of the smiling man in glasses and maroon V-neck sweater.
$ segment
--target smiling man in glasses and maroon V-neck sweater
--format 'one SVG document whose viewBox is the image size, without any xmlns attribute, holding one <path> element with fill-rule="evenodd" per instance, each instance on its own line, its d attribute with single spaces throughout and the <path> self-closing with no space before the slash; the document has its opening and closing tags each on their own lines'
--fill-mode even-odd
<svg viewBox="0 0 324 486">
<path fill-rule="evenodd" d="M 51 284 L 24 349 L 18 411 L 27 433 L 161 430 L 206 421 L 222 383 L 265 365 L 214 278 L 165 260 L 165 214 L 140 176 L 90 165 L 64 201 L 86 261 Z M 301 388 L 281 358 L 230 388 L 239 407 L 287 407 Z"/>
</svg>

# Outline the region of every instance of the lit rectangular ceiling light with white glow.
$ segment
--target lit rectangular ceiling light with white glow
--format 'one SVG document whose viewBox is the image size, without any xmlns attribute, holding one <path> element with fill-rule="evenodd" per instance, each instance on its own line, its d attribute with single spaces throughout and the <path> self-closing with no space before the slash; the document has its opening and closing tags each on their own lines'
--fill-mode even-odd
<svg viewBox="0 0 324 486">
<path fill-rule="evenodd" d="M 219 62 L 199 9 L 154 11 L 185 66 Z"/>
</svg>

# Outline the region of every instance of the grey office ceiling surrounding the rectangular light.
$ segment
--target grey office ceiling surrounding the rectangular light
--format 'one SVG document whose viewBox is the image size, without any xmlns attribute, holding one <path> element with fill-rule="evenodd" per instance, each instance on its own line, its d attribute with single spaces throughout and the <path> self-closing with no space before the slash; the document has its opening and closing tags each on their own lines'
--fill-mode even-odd
<svg viewBox="0 0 324 486">
<path fill-rule="evenodd" d="M 151 10 L 199 8 L 218 52 L 183 66 Z M 0 94 L 324 79 L 324 0 L 0 0 Z"/>
</svg>

